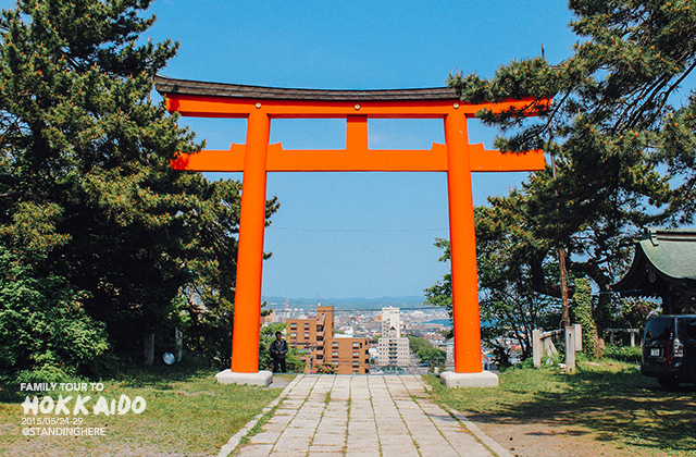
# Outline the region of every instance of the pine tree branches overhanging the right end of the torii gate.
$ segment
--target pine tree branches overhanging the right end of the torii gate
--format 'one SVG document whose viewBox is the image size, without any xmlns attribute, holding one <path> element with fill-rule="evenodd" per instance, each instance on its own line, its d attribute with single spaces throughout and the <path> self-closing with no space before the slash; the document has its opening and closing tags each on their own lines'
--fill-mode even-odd
<svg viewBox="0 0 696 457">
<path fill-rule="evenodd" d="M 625 271 L 635 236 L 692 222 L 696 211 L 696 103 L 678 92 L 696 69 L 696 9 L 633 0 L 569 7 L 579 35 L 571 58 L 512 61 L 490 79 L 453 74 L 449 84 L 468 102 L 529 100 L 522 110 L 478 116 L 500 128 L 497 147 L 543 148 L 555 170 L 490 199 L 489 213 L 494 226 L 518 214 L 520 236 L 505 260 L 524 264 L 536 292 L 561 296 L 549 265 L 559 247 L 568 252 L 569 271 L 602 293 L 594 313 L 601 331 L 617 307 L 605 293 Z"/>
</svg>

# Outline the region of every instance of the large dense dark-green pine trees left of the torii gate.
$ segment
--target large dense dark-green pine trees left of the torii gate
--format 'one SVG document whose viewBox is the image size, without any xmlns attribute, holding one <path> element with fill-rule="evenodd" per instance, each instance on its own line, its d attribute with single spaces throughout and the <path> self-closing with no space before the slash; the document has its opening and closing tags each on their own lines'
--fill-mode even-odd
<svg viewBox="0 0 696 457">
<path fill-rule="evenodd" d="M 21 0 L 0 13 L 0 244 L 32 265 L 5 293 L 38 325 L 21 339 L 45 348 L 22 361 L 33 368 L 83 367 L 105 335 L 140 360 L 144 336 L 174 326 L 187 349 L 228 361 L 240 184 L 171 170 L 201 145 L 150 100 L 177 46 L 138 39 L 149 3 Z M 53 349 L 65 338 L 77 356 Z"/>
</svg>

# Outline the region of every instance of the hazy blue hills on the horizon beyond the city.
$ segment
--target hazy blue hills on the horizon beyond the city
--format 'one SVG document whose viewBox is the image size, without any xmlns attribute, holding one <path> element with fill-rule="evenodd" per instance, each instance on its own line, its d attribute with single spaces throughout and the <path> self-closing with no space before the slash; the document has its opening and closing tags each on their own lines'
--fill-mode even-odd
<svg viewBox="0 0 696 457">
<path fill-rule="evenodd" d="M 268 301 L 269 308 L 284 308 L 287 297 L 269 296 L 262 297 Z M 426 307 L 423 305 L 425 298 L 422 296 L 405 296 L 405 297 L 378 297 L 378 298 L 320 298 L 322 305 L 333 306 L 336 310 L 341 309 L 381 309 L 387 306 L 398 308 L 419 308 Z M 316 307 L 316 298 L 294 298 L 289 297 L 290 308 L 314 309 Z"/>
</svg>

